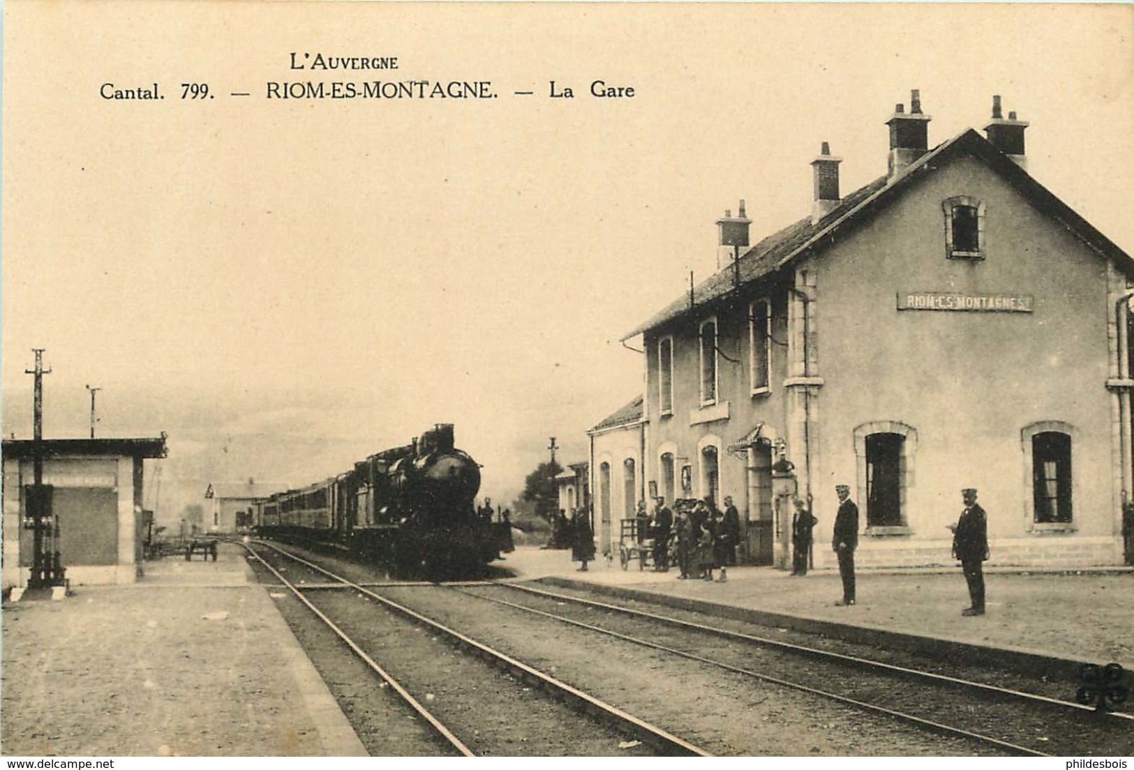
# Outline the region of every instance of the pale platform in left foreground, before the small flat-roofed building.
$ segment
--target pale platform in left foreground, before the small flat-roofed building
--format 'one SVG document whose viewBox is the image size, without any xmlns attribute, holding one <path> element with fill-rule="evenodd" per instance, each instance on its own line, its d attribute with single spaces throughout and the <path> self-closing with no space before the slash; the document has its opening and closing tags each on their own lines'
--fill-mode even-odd
<svg viewBox="0 0 1134 770">
<path fill-rule="evenodd" d="M 366 755 L 236 545 L 2 611 L 6 756 Z"/>
</svg>

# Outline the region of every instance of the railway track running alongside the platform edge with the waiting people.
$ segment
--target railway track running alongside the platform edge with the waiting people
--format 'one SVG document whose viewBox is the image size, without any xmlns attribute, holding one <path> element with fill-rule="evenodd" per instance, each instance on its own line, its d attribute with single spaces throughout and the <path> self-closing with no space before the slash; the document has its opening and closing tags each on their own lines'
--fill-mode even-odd
<svg viewBox="0 0 1134 770">
<path fill-rule="evenodd" d="M 933 731 L 976 741 L 1014 754 L 1126 755 L 1134 751 L 1134 738 L 1131 735 L 1131 722 L 1134 719 L 1125 712 L 1100 713 L 1075 702 L 1010 687 L 869 660 L 526 585 L 501 583 L 464 587 L 460 591 L 518 611 L 719 666 L 870 712 L 885 713 Z M 499 595 L 501 593 L 518 594 L 521 599 L 502 599 Z M 583 611 L 565 611 L 565 607 L 572 606 L 583 608 Z M 593 610 L 601 611 L 598 618 Z M 705 649 L 705 636 L 719 640 L 720 644 L 713 646 L 711 653 L 702 654 L 700 651 Z M 668 643 L 659 643 L 658 638 L 666 638 Z M 743 646 L 736 649 L 735 644 Z M 784 666 L 777 660 L 784 655 L 803 659 L 806 666 Z M 790 674 L 772 674 L 777 669 L 787 669 Z M 847 680 L 845 674 L 848 669 L 856 672 L 852 680 Z M 896 689 L 895 680 L 904 683 L 906 687 Z M 844 686 L 837 686 L 839 683 Z M 906 691 L 913 694 L 908 695 Z M 1009 710 L 1013 719 L 1006 720 Z M 984 727 L 979 731 L 966 725 Z M 999 731 L 1000 736 L 991 735 L 992 730 Z"/>
</svg>

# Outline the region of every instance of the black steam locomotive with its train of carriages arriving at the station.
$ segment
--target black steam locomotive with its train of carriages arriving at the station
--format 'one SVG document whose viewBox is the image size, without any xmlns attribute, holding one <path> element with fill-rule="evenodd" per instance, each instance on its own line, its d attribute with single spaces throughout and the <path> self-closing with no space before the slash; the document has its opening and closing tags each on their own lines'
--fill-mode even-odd
<svg viewBox="0 0 1134 770">
<path fill-rule="evenodd" d="M 259 534 L 328 543 L 392 574 L 469 575 L 513 550 L 511 525 L 482 518 L 480 466 L 439 424 L 405 447 L 253 507 Z"/>
</svg>

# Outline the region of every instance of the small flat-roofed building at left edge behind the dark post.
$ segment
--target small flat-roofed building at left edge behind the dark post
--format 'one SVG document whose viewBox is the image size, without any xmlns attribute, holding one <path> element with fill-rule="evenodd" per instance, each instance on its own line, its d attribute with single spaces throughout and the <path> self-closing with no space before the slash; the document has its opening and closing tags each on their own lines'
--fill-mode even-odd
<svg viewBox="0 0 1134 770">
<path fill-rule="evenodd" d="M 166 457 L 153 439 L 45 439 L 43 484 L 51 488 L 51 534 L 73 585 L 134 583 L 142 573 L 142 490 L 146 459 Z M 33 440 L 5 440 L 3 589 L 27 585 L 33 532 L 26 500 Z"/>
</svg>

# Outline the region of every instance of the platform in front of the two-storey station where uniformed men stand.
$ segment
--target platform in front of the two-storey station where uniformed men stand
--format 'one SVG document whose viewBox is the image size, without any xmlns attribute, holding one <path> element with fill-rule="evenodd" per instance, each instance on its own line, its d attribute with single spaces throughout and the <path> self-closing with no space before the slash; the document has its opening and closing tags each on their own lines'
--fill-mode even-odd
<svg viewBox="0 0 1134 770">
<path fill-rule="evenodd" d="M 1039 572 L 985 569 L 987 614 L 962 617 L 968 590 L 959 565 L 954 569 L 858 569 L 856 603 L 836 607 L 843 598 L 838 569 L 813 569 L 804 577 L 772 567 L 729 567 L 725 583 L 677 579 L 668 573 L 640 572 L 632 561 L 624 570 L 617 558 L 602 557 L 578 572 L 570 551 L 517 548 L 503 561 L 518 579 L 551 578 L 633 596 L 658 595 L 667 603 L 719 614 L 763 614 L 804 629 L 835 625 L 861 629 L 869 641 L 886 634 L 922 637 L 978 651 L 1002 649 L 1038 660 L 1118 662 L 1134 671 L 1134 569 L 1107 568 Z M 872 635 L 873 634 L 873 635 Z"/>
</svg>

